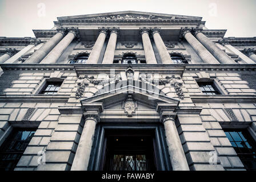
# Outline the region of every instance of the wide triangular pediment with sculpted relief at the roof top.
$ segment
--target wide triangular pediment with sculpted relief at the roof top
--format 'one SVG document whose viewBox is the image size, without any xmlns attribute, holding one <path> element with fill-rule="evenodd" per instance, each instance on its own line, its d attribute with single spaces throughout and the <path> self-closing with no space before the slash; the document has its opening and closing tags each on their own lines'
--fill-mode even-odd
<svg viewBox="0 0 256 182">
<path fill-rule="evenodd" d="M 159 14 L 159 13 L 147 13 L 140 11 L 119 11 L 113 13 L 100 13 L 89 15 L 76 15 L 76 16 L 62 16 L 58 17 L 58 20 L 83 20 L 83 19 L 189 19 L 189 20 L 201 20 L 202 17 L 198 16 L 185 16 L 185 15 L 173 15 L 173 14 Z"/>
</svg>

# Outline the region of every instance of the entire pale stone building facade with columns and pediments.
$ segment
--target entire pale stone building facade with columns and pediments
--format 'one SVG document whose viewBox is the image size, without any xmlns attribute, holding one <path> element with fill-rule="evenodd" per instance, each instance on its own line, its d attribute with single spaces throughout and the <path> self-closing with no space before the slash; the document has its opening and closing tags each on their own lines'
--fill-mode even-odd
<svg viewBox="0 0 256 182">
<path fill-rule="evenodd" d="M 59 17 L 0 38 L 0 167 L 256 169 L 256 38 L 201 17 Z"/>
</svg>

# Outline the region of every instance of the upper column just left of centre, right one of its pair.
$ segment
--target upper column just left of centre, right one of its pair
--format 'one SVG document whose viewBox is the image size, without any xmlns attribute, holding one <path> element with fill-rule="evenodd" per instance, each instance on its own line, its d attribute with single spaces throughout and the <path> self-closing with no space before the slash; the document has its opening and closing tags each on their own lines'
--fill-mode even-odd
<svg viewBox="0 0 256 182">
<path fill-rule="evenodd" d="M 105 55 L 102 60 L 102 64 L 112 64 L 115 55 L 115 46 L 117 43 L 118 28 L 110 28 L 110 38 L 107 43 Z"/>
</svg>

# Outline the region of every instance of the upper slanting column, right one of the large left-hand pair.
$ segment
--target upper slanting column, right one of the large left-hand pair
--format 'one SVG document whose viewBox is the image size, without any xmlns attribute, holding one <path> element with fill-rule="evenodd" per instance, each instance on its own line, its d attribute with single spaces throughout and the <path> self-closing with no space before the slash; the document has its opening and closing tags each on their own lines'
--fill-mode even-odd
<svg viewBox="0 0 256 182">
<path fill-rule="evenodd" d="M 65 51 L 67 46 L 77 36 L 77 28 L 70 28 L 68 34 L 55 46 L 50 53 L 40 62 L 41 64 L 55 63 L 62 53 Z"/>
</svg>

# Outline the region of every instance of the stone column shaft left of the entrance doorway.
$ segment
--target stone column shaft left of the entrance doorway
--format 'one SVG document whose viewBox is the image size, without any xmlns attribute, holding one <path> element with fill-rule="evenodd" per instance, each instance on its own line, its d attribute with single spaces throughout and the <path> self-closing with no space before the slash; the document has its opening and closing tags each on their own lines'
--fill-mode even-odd
<svg viewBox="0 0 256 182">
<path fill-rule="evenodd" d="M 90 117 L 86 119 L 71 171 L 87 171 L 96 124 L 97 120 L 95 118 Z"/>
</svg>

